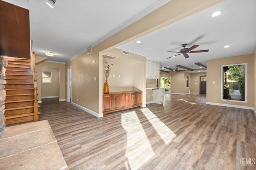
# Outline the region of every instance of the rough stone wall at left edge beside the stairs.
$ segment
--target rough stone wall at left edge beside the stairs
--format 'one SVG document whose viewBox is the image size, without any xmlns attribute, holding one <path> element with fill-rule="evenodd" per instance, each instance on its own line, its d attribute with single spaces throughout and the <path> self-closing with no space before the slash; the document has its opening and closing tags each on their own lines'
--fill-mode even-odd
<svg viewBox="0 0 256 170">
<path fill-rule="evenodd" d="M 4 84 L 6 84 L 5 79 L 5 68 L 7 64 L 7 60 L 4 59 L 4 56 L 0 56 L 0 137 L 4 133 L 5 128 L 5 119 L 4 119 L 4 100 L 6 97 L 6 91 L 4 90 Z"/>
</svg>

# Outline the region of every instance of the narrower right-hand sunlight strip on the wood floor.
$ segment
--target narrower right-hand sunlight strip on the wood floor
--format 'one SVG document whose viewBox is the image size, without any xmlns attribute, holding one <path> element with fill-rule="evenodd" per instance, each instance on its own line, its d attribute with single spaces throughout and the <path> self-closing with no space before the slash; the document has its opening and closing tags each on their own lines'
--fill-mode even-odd
<svg viewBox="0 0 256 170">
<path fill-rule="evenodd" d="M 176 135 L 148 108 L 143 108 L 140 110 L 147 117 L 148 121 L 152 124 L 152 126 L 155 128 L 156 132 L 162 138 L 166 145 L 176 137 Z"/>
</svg>

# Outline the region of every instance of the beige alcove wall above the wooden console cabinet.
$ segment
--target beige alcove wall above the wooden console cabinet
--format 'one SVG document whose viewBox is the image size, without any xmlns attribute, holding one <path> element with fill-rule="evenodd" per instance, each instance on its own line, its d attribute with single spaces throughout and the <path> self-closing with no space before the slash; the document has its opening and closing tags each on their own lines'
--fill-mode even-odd
<svg viewBox="0 0 256 170">
<path fill-rule="evenodd" d="M 114 60 L 103 59 L 103 63 L 107 62 L 108 64 L 113 64 L 108 78 L 110 92 L 144 90 L 144 75 L 146 74 L 146 68 L 144 67 L 144 63 L 146 62 L 145 57 L 133 53 L 131 53 L 130 56 L 124 55 L 120 49 L 105 51 L 104 54 L 118 57 Z M 113 77 L 113 75 L 115 75 L 115 77 Z M 105 80 L 106 78 L 103 72 L 102 82 L 105 82 Z"/>
</svg>

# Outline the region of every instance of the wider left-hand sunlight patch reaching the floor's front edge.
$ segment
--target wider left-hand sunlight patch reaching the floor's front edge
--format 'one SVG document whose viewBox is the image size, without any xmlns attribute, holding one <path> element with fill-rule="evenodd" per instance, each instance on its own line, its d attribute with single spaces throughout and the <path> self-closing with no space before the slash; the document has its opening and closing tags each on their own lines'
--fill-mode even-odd
<svg viewBox="0 0 256 170">
<path fill-rule="evenodd" d="M 135 111 L 123 113 L 121 120 L 122 127 L 127 131 L 127 168 L 139 169 L 140 166 L 155 155 L 154 150 Z"/>
</svg>

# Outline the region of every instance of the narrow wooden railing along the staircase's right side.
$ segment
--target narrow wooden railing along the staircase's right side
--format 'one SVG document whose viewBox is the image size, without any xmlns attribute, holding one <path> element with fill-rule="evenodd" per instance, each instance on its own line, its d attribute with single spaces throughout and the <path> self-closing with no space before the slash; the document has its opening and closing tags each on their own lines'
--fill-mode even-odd
<svg viewBox="0 0 256 170">
<path fill-rule="evenodd" d="M 33 71 L 34 82 L 34 121 L 38 120 L 38 100 L 37 100 L 37 79 L 36 79 L 36 54 L 31 56 L 31 71 Z"/>
</svg>

